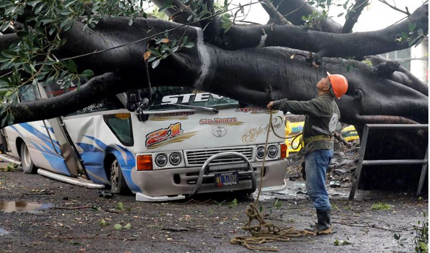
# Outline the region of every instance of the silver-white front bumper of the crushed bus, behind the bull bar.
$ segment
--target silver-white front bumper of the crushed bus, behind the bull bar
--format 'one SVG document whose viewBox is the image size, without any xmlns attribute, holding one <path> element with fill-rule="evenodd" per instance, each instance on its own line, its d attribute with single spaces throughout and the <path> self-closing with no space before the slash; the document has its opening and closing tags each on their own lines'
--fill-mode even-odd
<svg viewBox="0 0 430 253">
<path fill-rule="evenodd" d="M 253 184 L 251 170 L 239 171 L 238 184 L 225 187 L 217 187 L 215 185 L 214 173 L 209 173 L 205 170 L 201 173 L 204 165 L 202 167 L 132 171 L 134 183 L 142 190 L 142 192 L 136 193 L 136 200 L 168 201 L 189 198 L 190 195 L 194 195 L 195 193 L 255 189 L 255 187 L 260 186 L 261 167 L 263 164 L 262 162 L 250 164 L 252 166 L 252 174 L 255 176 L 255 185 Z M 276 189 L 271 189 L 271 191 L 284 189 L 286 187 L 284 178 L 287 171 L 287 160 L 266 161 L 265 167 L 262 187 L 280 186 Z M 199 180 L 199 174 L 203 174 L 201 180 Z M 198 189 L 196 190 L 196 188 Z"/>
</svg>

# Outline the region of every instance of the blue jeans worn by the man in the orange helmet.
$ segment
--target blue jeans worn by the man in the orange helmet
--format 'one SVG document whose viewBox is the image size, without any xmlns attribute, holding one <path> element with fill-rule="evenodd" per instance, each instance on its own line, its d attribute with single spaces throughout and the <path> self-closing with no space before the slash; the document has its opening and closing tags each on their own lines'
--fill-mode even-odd
<svg viewBox="0 0 430 253">
<path fill-rule="evenodd" d="M 320 211 L 330 210 L 325 174 L 332 157 L 333 149 L 319 149 L 305 156 L 306 190 L 314 207 Z"/>
</svg>

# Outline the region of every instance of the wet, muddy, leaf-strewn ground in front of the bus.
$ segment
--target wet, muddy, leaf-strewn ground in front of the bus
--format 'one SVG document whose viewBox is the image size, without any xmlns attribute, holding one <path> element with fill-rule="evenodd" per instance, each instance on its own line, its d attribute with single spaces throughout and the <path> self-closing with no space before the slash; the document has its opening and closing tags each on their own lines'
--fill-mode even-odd
<svg viewBox="0 0 430 253">
<path fill-rule="evenodd" d="M 268 222 L 303 229 L 316 221 L 303 180 L 287 181 L 283 192 L 262 194 L 259 206 Z M 335 233 L 270 242 L 279 252 L 413 252 L 411 224 L 423 220 L 427 196 L 410 192 L 329 188 Z M 21 169 L 0 172 L 0 201 L 48 204 L 37 212 L 0 212 L 3 252 L 253 252 L 230 239 L 240 229 L 254 195 L 202 195 L 182 202 L 136 202 L 134 196 L 99 197 L 91 190 Z M 237 199 L 237 202 L 235 201 Z M 278 201 L 276 201 L 278 199 Z M 389 210 L 372 209 L 381 202 Z M 394 234 L 407 238 L 400 247 Z M 335 240 L 348 245 L 334 245 Z"/>
</svg>

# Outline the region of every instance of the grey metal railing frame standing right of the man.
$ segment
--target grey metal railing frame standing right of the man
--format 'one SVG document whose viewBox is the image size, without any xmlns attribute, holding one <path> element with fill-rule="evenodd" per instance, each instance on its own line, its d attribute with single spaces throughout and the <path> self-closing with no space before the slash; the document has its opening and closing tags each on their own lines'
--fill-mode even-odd
<svg viewBox="0 0 430 253">
<path fill-rule="evenodd" d="M 355 191 L 358 188 L 360 180 L 361 170 L 363 165 L 393 165 L 393 164 L 422 164 L 421 176 L 419 178 L 418 189 L 416 194 L 421 194 L 422 188 L 424 187 L 425 174 L 428 168 L 428 143 L 427 150 L 425 151 L 424 159 L 390 159 L 390 160 L 364 160 L 364 154 L 366 152 L 367 138 L 369 136 L 370 129 L 428 129 L 428 124 L 366 124 L 363 131 L 363 139 L 361 141 L 359 161 L 357 164 L 357 170 L 353 178 L 351 185 L 351 192 L 349 200 L 354 199 Z"/>
</svg>

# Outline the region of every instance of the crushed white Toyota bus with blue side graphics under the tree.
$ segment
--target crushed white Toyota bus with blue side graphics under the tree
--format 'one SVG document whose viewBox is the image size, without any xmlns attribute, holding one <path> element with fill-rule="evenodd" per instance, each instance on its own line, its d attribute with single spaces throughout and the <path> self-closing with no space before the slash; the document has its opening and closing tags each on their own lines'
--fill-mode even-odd
<svg viewBox="0 0 430 253">
<path fill-rule="evenodd" d="M 62 85 L 23 87 L 20 101 L 62 94 Z M 286 187 L 287 147 L 270 130 L 267 109 L 190 88 L 152 91 L 150 101 L 141 100 L 140 91 L 122 93 L 69 115 L 7 126 L 1 158 L 21 163 L 25 173 L 117 194 L 131 191 L 138 201 L 250 193 L 260 184 L 270 131 L 263 187 Z M 285 136 L 281 111 L 272 124 Z"/>
</svg>

